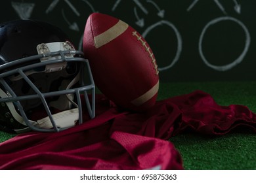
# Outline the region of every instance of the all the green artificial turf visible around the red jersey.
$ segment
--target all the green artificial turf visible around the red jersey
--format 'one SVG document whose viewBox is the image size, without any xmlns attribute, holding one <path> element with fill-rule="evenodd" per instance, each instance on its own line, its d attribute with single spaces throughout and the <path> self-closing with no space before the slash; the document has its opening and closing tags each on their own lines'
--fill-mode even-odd
<svg viewBox="0 0 256 183">
<path fill-rule="evenodd" d="M 246 105 L 256 112 L 256 82 L 160 83 L 158 100 L 195 90 L 209 93 L 219 105 Z M 14 135 L 0 132 L 0 142 Z M 256 134 L 236 129 L 226 135 L 183 133 L 169 139 L 181 153 L 184 169 L 256 169 Z"/>
</svg>

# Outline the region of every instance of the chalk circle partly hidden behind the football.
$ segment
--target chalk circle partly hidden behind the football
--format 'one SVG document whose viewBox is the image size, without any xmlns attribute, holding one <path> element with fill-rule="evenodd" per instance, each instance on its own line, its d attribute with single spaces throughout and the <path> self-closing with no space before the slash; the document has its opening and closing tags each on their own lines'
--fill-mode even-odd
<svg viewBox="0 0 256 183">
<path fill-rule="evenodd" d="M 166 20 L 161 20 L 160 22 L 156 22 L 156 24 L 150 25 L 145 31 L 144 33 L 142 33 L 142 37 L 146 38 L 146 35 L 148 35 L 148 33 L 150 33 L 150 31 L 152 31 L 152 29 L 155 29 L 156 27 L 160 26 L 160 25 L 167 25 L 169 27 L 171 27 L 173 29 L 173 31 L 175 31 L 175 35 L 177 37 L 177 52 L 175 54 L 175 58 L 173 58 L 173 60 L 171 61 L 171 63 L 165 67 L 158 67 L 159 71 L 164 71 L 167 69 L 170 69 L 171 67 L 173 67 L 173 65 L 175 65 L 175 63 L 179 60 L 180 56 L 181 56 L 181 51 L 182 51 L 182 38 L 181 38 L 181 34 L 179 33 L 178 29 L 175 27 L 175 25 L 173 25 L 171 22 L 168 22 Z"/>
</svg>

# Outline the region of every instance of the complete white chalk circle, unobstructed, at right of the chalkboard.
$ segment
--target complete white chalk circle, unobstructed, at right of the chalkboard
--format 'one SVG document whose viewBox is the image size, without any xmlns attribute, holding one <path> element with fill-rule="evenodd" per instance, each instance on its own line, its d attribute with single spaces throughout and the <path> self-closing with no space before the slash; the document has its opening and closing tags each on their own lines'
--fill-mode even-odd
<svg viewBox="0 0 256 183">
<path fill-rule="evenodd" d="M 240 56 L 238 58 L 236 58 L 234 61 L 232 61 L 232 63 L 228 63 L 226 65 L 217 66 L 217 65 L 213 65 L 213 64 L 209 63 L 209 61 L 207 61 L 207 59 L 203 55 L 202 42 L 203 42 L 203 37 L 205 35 L 205 32 L 207 31 L 207 29 L 211 25 L 214 25 L 214 24 L 217 24 L 218 22 L 226 21 L 226 20 L 230 20 L 230 21 L 236 22 L 238 25 L 240 25 L 244 29 L 244 32 L 245 32 L 245 46 L 244 46 L 244 50 L 243 50 L 242 54 L 240 54 Z M 237 20 L 236 18 L 232 18 L 230 16 L 221 16 L 219 18 L 215 18 L 215 19 L 211 20 L 209 23 L 207 23 L 205 25 L 205 27 L 203 28 L 203 31 L 202 31 L 202 33 L 200 35 L 198 47 L 199 47 L 200 56 L 203 59 L 203 62 L 208 67 L 211 67 L 212 69 L 215 69 L 217 71 L 227 71 L 229 69 L 232 69 L 233 67 L 235 67 L 236 65 L 238 65 L 240 62 L 243 61 L 247 51 L 249 50 L 250 42 L 251 42 L 251 37 L 250 37 L 249 31 L 248 31 L 247 27 L 245 27 L 245 25 L 240 20 Z"/>
</svg>

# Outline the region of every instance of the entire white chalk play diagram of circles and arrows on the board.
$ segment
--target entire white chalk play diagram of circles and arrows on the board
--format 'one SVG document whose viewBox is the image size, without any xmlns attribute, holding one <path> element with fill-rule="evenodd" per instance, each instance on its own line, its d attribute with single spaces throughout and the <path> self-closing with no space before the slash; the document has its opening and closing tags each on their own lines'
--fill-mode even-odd
<svg viewBox="0 0 256 183">
<path fill-rule="evenodd" d="M 49 3 L 47 8 L 45 9 L 45 14 L 49 14 L 50 12 L 52 12 L 54 10 L 54 8 L 58 5 L 58 3 L 60 3 L 60 1 L 64 2 L 64 4 L 66 4 L 66 6 L 69 8 L 68 10 L 72 11 L 75 14 L 75 16 L 77 16 L 77 20 L 78 20 L 78 17 L 81 16 L 81 13 L 79 12 L 79 10 L 77 10 L 75 5 L 72 4 L 71 0 L 53 0 L 53 1 L 51 1 L 51 3 Z M 91 12 L 97 12 L 95 10 L 95 7 L 93 7 L 93 5 L 90 3 L 90 1 L 87 1 L 87 0 L 77 0 L 77 1 L 84 3 L 85 6 L 87 6 L 91 9 Z M 192 3 L 186 9 L 186 12 L 192 13 L 193 8 L 198 4 L 199 1 L 200 0 L 192 1 Z M 230 1 L 233 2 L 234 11 L 237 14 L 241 14 L 242 8 L 241 8 L 241 5 L 238 3 L 238 1 L 237 0 L 230 0 Z M 205 26 L 202 29 L 202 32 L 200 33 L 200 38 L 198 40 L 198 54 L 200 55 L 200 58 L 202 58 L 203 63 L 205 63 L 205 65 L 207 65 L 207 67 L 210 67 L 211 69 L 214 69 L 216 71 L 228 71 L 229 69 L 232 69 L 233 67 L 235 67 L 236 65 L 238 65 L 239 63 L 241 63 L 243 61 L 245 55 L 247 54 L 247 51 L 249 50 L 251 37 L 250 37 L 247 27 L 244 25 L 243 22 L 241 22 L 240 20 L 238 20 L 232 16 L 228 16 L 228 13 L 226 12 L 224 6 L 219 2 L 219 0 L 213 0 L 213 2 L 217 6 L 217 8 L 219 8 L 219 10 L 221 10 L 221 12 L 224 14 L 224 16 L 217 17 L 217 18 L 207 22 L 207 24 L 205 24 Z M 111 11 L 115 12 L 117 10 L 117 8 L 119 6 L 121 6 L 121 3 L 127 3 L 127 1 L 123 1 L 123 0 L 114 1 Z M 134 8 L 133 8 L 134 19 L 135 19 L 134 24 L 144 30 L 141 33 L 142 37 L 144 37 L 146 39 L 146 37 L 150 33 L 152 33 L 153 30 L 158 29 L 158 27 L 160 27 L 160 26 L 161 27 L 164 26 L 168 30 L 171 29 L 171 31 L 173 31 L 175 33 L 175 37 L 177 39 L 177 50 L 175 52 L 175 56 L 173 58 L 171 58 L 170 60 L 167 60 L 166 61 L 167 63 L 165 63 L 164 66 L 158 67 L 159 71 L 165 71 L 165 70 L 171 69 L 171 67 L 173 67 L 173 65 L 175 65 L 175 63 L 177 63 L 177 61 L 179 61 L 179 58 L 182 53 L 182 35 L 179 32 L 179 29 L 172 22 L 165 20 L 165 10 L 163 8 L 161 8 L 158 5 L 158 3 L 156 3 L 156 0 L 144 0 L 144 1 L 133 0 L 132 3 L 134 3 Z M 35 3 L 24 3 L 23 1 L 22 2 L 11 1 L 11 6 L 15 10 L 15 12 L 18 14 L 18 16 L 23 19 L 23 18 L 31 17 L 33 9 L 35 7 Z M 149 10 L 146 8 L 148 6 L 153 6 L 157 10 L 156 16 L 158 16 L 160 18 L 159 22 L 155 22 L 152 25 L 145 25 L 145 23 L 144 23 L 145 21 L 144 21 L 143 17 L 150 13 Z M 81 31 L 79 29 L 79 22 L 76 22 L 74 20 L 69 20 L 68 16 L 66 16 L 66 8 L 61 9 L 61 14 L 62 14 L 63 20 L 66 22 L 69 29 L 71 29 L 72 31 L 78 32 L 78 33 Z M 207 56 L 203 52 L 202 42 L 205 40 L 205 33 L 207 33 L 207 31 L 209 31 L 209 29 L 213 29 L 213 27 L 215 25 L 219 24 L 219 22 L 227 22 L 227 21 L 234 22 L 236 25 L 242 27 L 242 30 L 244 31 L 244 34 L 245 34 L 244 50 L 242 50 L 240 56 L 238 56 L 238 58 L 234 59 L 234 61 L 232 61 L 231 63 L 228 63 L 226 65 L 214 65 L 214 64 L 210 63 L 210 61 L 207 59 Z M 82 42 L 83 42 L 83 33 L 81 35 L 81 39 L 79 40 L 79 45 L 78 45 L 79 50 L 81 50 L 81 48 L 82 48 Z"/>
</svg>

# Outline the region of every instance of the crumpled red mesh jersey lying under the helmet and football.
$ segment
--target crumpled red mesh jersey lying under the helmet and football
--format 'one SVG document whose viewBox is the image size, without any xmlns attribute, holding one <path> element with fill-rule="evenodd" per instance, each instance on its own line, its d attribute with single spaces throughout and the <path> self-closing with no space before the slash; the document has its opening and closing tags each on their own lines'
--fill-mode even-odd
<svg viewBox="0 0 256 183">
<path fill-rule="evenodd" d="M 96 97 L 96 118 L 59 133 L 30 132 L 0 144 L 0 169 L 183 169 L 167 141 L 183 131 L 223 135 L 238 126 L 256 131 L 256 114 L 220 106 L 202 91 L 129 112 Z"/>
</svg>

